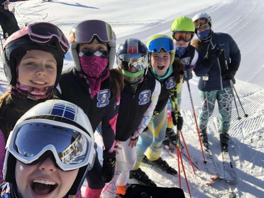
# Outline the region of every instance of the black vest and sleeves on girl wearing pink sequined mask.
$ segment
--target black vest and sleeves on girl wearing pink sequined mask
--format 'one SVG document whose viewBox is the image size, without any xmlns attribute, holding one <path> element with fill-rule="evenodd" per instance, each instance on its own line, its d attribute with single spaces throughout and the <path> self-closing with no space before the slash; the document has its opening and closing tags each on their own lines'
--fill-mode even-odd
<svg viewBox="0 0 264 198">
<path fill-rule="evenodd" d="M 101 82 L 99 93 L 91 98 L 85 79 L 79 76 L 75 67 L 70 67 L 62 71 L 57 88 L 61 90 L 59 97 L 62 100 L 82 108 L 89 118 L 94 132 L 102 122 L 104 148 L 109 153 L 113 152 L 120 96 L 112 98 L 109 78 Z"/>
</svg>

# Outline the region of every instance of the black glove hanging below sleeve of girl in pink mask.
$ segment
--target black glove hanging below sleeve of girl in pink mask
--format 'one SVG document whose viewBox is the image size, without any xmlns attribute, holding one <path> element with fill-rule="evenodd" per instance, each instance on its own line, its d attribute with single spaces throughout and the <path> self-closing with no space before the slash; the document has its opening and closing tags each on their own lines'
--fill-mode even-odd
<svg viewBox="0 0 264 198">
<path fill-rule="evenodd" d="M 107 153 L 103 151 L 103 166 L 102 166 L 102 179 L 105 183 L 109 183 L 115 173 L 115 165 L 116 165 L 116 152 Z"/>
</svg>

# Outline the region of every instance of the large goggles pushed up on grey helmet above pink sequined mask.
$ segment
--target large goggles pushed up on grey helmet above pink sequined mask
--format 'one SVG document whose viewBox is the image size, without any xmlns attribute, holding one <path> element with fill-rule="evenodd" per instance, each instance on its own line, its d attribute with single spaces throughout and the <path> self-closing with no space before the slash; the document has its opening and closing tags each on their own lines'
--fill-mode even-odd
<svg viewBox="0 0 264 198">
<path fill-rule="evenodd" d="M 75 42 L 92 42 L 97 37 L 101 42 L 116 40 L 116 35 L 111 26 L 100 20 L 82 21 L 72 28 L 68 37 L 69 43 Z"/>
</svg>

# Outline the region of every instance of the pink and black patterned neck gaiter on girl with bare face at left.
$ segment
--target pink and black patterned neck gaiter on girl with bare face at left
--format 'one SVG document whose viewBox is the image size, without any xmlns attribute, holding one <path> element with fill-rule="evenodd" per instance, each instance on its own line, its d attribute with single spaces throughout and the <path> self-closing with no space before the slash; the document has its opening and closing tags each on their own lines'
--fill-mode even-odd
<svg viewBox="0 0 264 198">
<path fill-rule="evenodd" d="M 16 66 L 16 86 L 11 85 L 9 90 L 12 95 L 23 99 L 29 98 L 31 100 L 48 100 L 52 97 L 54 85 L 43 88 L 21 85 L 18 79 L 18 66 Z"/>
</svg>

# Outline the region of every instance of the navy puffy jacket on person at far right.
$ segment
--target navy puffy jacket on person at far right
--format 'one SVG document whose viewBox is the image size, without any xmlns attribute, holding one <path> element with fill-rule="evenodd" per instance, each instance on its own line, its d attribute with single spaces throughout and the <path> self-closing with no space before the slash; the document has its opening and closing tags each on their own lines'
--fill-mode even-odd
<svg viewBox="0 0 264 198">
<path fill-rule="evenodd" d="M 213 63 L 211 68 L 206 68 L 201 64 L 201 61 L 204 58 L 207 52 L 208 45 L 210 43 L 211 46 L 217 44 L 219 49 L 225 49 L 226 60 L 229 69 L 231 69 L 232 67 L 232 65 L 230 64 L 231 62 L 235 61 L 240 63 L 241 60 L 240 50 L 238 49 L 238 46 L 233 40 L 233 38 L 226 33 L 213 32 L 211 39 L 203 42 L 203 49 L 201 51 L 197 50 L 199 58 L 196 63 L 196 66 L 194 67 L 194 73 L 196 76 L 201 77 L 198 83 L 198 89 L 201 91 L 220 90 L 230 86 L 230 82 L 224 81 L 224 78 L 221 76 L 224 71 L 224 68 L 220 65 L 219 59 L 217 59 Z M 205 76 L 206 74 L 208 74 L 209 76 L 208 81 L 204 81 L 202 79 L 202 76 Z M 235 83 L 234 78 L 232 79 L 232 81 L 233 83 Z"/>
</svg>

